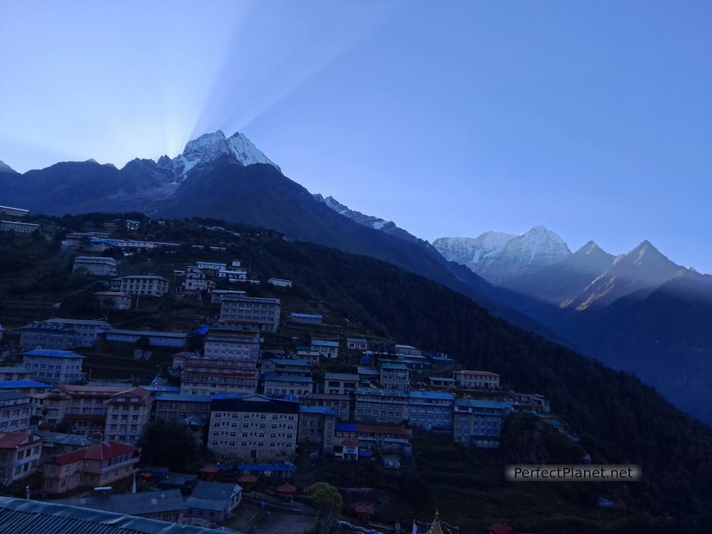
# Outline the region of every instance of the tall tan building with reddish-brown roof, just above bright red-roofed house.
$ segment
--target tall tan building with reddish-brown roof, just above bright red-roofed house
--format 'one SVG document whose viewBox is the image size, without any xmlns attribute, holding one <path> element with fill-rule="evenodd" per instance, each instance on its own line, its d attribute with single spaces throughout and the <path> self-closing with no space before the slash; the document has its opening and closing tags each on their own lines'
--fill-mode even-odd
<svg viewBox="0 0 712 534">
<path fill-rule="evenodd" d="M 133 387 L 112 395 L 106 401 L 104 438 L 110 441 L 135 444 L 151 418 L 155 400 L 152 392 Z"/>
</svg>

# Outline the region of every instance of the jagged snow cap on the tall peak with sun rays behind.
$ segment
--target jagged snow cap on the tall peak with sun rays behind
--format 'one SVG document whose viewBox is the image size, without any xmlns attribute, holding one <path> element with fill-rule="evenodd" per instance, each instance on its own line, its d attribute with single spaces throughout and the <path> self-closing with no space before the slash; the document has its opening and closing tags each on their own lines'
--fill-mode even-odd
<svg viewBox="0 0 712 534">
<path fill-rule="evenodd" d="M 266 157 L 244 134 L 235 132 L 230 137 L 225 137 L 222 130 L 203 134 L 187 142 L 181 155 L 173 159 L 162 156 L 157 163 L 159 167 L 171 169 L 176 175 L 176 181 L 181 182 L 197 164 L 211 162 L 222 156 L 232 156 L 245 166 L 263 163 L 281 171 L 278 165 Z"/>
</svg>

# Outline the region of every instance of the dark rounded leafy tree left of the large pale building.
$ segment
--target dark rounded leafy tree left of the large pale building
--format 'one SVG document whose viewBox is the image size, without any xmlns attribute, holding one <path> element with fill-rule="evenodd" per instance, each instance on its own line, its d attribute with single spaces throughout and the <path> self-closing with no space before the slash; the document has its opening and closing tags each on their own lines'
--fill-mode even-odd
<svg viewBox="0 0 712 534">
<path fill-rule="evenodd" d="M 173 420 L 158 419 L 147 424 L 138 446 L 143 462 L 176 471 L 200 459 L 200 449 L 192 432 Z"/>
</svg>

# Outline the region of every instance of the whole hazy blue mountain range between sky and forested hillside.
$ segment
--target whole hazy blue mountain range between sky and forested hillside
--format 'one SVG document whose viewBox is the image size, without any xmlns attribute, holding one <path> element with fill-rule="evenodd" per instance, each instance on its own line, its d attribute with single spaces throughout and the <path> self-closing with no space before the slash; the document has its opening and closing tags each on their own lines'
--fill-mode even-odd
<svg viewBox="0 0 712 534">
<path fill-rule="evenodd" d="M 620 256 L 593 241 L 572 253 L 554 231 L 535 226 L 429 244 L 392 221 L 308 192 L 244 135 L 221 131 L 188 142 L 177 157 L 134 159 L 122 169 L 88 160 L 19 174 L 0 162 L 0 204 L 33 214 L 212 217 L 373 256 L 636 372 L 712 422 L 712 277 L 676 265 L 648 241 Z"/>
</svg>

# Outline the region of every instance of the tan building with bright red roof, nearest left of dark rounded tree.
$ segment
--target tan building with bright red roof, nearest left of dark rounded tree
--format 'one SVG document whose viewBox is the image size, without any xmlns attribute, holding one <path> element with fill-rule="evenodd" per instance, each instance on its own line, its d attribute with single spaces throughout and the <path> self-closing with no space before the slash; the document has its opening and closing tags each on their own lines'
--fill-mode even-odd
<svg viewBox="0 0 712 534">
<path fill-rule="evenodd" d="M 138 461 L 139 449 L 116 441 L 58 454 L 43 468 L 42 489 L 57 495 L 82 486 L 110 486 L 133 476 Z"/>
</svg>

